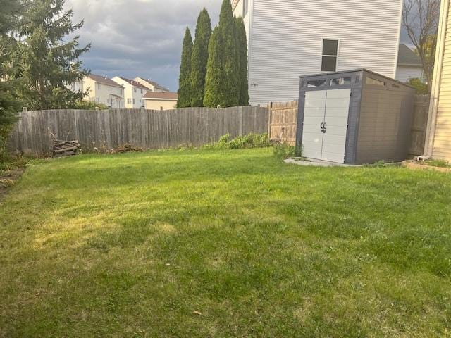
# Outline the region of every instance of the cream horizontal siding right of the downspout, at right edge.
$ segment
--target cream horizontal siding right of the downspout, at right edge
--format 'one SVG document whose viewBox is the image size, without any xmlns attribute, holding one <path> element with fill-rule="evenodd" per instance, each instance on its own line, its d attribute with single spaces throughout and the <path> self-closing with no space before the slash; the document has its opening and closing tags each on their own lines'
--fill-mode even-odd
<svg viewBox="0 0 451 338">
<path fill-rule="evenodd" d="M 432 153 L 447 161 L 451 161 L 451 6 L 449 12 Z"/>
</svg>

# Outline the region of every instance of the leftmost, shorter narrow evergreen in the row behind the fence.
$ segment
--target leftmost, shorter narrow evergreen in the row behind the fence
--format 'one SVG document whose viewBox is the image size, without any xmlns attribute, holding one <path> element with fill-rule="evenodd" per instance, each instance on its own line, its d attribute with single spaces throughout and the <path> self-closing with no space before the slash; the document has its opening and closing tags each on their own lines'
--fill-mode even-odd
<svg viewBox="0 0 451 338">
<path fill-rule="evenodd" d="M 190 28 L 186 27 L 185 37 L 183 38 L 182 61 L 180 63 L 180 77 L 178 80 L 177 108 L 185 108 L 191 106 L 191 57 L 192 37 Z"/>
</svg>

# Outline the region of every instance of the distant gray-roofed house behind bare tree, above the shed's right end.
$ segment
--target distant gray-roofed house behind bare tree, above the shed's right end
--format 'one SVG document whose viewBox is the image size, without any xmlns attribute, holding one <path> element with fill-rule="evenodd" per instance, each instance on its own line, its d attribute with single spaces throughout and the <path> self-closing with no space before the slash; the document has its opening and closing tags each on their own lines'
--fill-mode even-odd
<svg viewBox="0 0 451 338">
<path fill-rule="evenodd" d="M 397 56 L 396 80 L 409 82 L 410 79 L 419 78 L 424 81 L 424 70 L 421 58 L 405 44 L 400 44 Z"/>
</svg>

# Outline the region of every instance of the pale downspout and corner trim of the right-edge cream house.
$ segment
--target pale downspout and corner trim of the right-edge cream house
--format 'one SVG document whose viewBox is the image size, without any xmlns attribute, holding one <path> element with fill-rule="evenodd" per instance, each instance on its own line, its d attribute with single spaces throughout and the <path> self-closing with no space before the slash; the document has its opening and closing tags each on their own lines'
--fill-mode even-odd
<svg viewBox="0 0 451 338">
<path fill-rule="evenodd" d="M 438 51 L 435 55 L 435 68 L 431 89 L 431 104 L 429 106 L 428 127 L 426 129 L 426 141 L 424 155 L 419 159 L 431 158 L 435 139 L 435 127 L 437 125 L 438 99 L 440 97 L 440 84 L 442 82 L 443 58 L 445 56 L 445 39 L 447 33 L 447 21 L 450 8 L 450 0 L 442 0 L 440 8 L 440 23 L 438 25 L 437 44 Z"/>
</svg>

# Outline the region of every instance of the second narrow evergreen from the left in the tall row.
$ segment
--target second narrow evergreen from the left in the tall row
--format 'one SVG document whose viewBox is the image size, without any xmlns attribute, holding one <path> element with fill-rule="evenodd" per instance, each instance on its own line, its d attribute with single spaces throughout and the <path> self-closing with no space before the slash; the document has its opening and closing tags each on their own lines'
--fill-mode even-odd
<svg viewBox="0 0 451 338">
<path fill-rule="evenodd" d="M 202 107 L 204 104 L 206 63 L 209 59 L 209 42 L 211 37 L 211 20 L 204 8 L 197 18 L 196 37 L 192 49 L 191 80 L 192 106 Z"/>
</svg>

